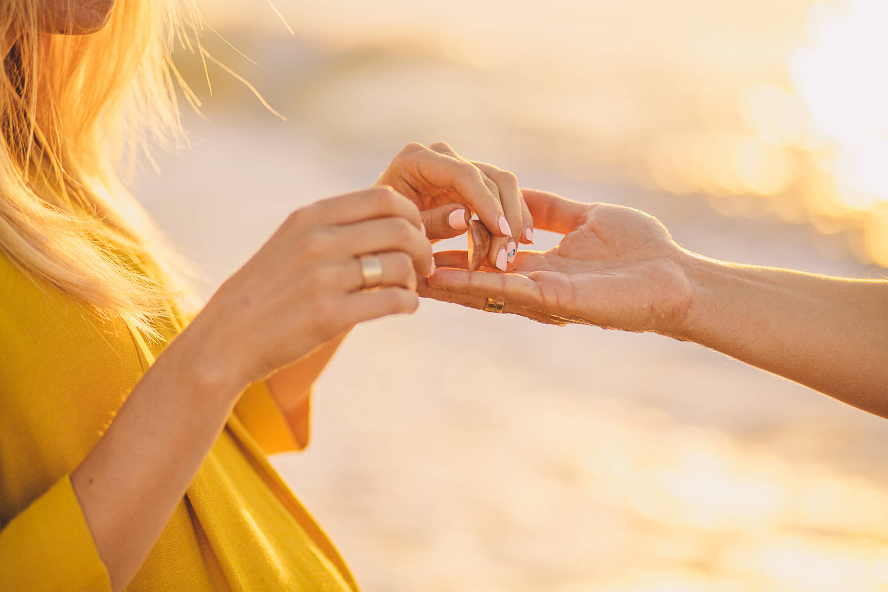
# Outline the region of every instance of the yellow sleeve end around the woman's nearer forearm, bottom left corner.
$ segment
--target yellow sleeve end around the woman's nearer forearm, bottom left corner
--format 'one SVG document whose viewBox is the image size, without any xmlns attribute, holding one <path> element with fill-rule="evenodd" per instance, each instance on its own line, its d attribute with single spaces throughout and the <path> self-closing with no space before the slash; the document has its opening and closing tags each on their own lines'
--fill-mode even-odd
<svg viewBox="0 0 888 592">
<path fill-rule="evenodd" d="M 67 475 L 0 530 L 0 588 L 111 592 Z"/>
</svg>

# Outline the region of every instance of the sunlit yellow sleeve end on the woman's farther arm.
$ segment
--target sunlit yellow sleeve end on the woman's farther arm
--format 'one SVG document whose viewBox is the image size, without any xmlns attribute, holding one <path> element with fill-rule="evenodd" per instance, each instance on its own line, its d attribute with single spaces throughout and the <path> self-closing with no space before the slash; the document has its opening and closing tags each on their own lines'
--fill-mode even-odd
<svg viewBox="0 0 888 592">
<path fill-rule="evenodd" d="M 243 391 L 234 414 L 266 454 L 302 450 L 308 444 L 308 405 L 288 418 L 265 381 Z"/>
</svg>

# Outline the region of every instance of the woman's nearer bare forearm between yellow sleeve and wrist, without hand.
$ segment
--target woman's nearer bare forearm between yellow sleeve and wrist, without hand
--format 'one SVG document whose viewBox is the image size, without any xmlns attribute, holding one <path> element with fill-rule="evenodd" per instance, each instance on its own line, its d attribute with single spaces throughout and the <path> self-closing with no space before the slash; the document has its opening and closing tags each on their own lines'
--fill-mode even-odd
<svg viewBox="0 0 888 592">
<path fill-rule="evenodd" d="M 213 337 L 195 320 L 170 343 L 71 473 L 114 590 L 139 571 L 246 385 L 206 359 Z"/>
</svg>

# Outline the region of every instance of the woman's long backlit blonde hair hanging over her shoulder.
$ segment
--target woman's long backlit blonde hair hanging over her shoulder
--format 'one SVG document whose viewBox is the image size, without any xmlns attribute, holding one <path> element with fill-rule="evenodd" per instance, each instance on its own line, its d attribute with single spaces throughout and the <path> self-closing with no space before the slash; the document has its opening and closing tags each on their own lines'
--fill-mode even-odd
<svg viewBox="0 0 888 592">
<path fill-rule="evenodd" d="M 40 1 L 0 6 L 0 41 L 17 38 L 0 76 L 0 249 L 99 315 L 158 336 L 187 265 L 117 170 L 123 154 L 185 139 L 174 79 L 193 95 L 170 53 L 177 40 L 190 47 L 185 25 L 196 31 L 199 14 L 191 0 L 117 0 L 98 32 L 48 35 Z"/>
</svg>

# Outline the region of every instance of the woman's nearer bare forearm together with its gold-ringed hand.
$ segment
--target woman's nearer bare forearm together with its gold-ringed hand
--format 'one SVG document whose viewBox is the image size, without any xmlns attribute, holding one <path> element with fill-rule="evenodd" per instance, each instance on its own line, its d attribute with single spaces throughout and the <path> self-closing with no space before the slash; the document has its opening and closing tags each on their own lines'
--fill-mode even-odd
<svg viewBox="0 0 888 592">
<path fill-rule="evenodd" d="M 358 322 L 416 310 L 416 273 L 432 264 L 420 224 L 390 188 L 299 209 L 163 351 L 71 475 L 113 589 L 138 571 L 247 384 Z M 371 253 L 382 286 L 363 291 L 357 257 Z"/>
</svg>

